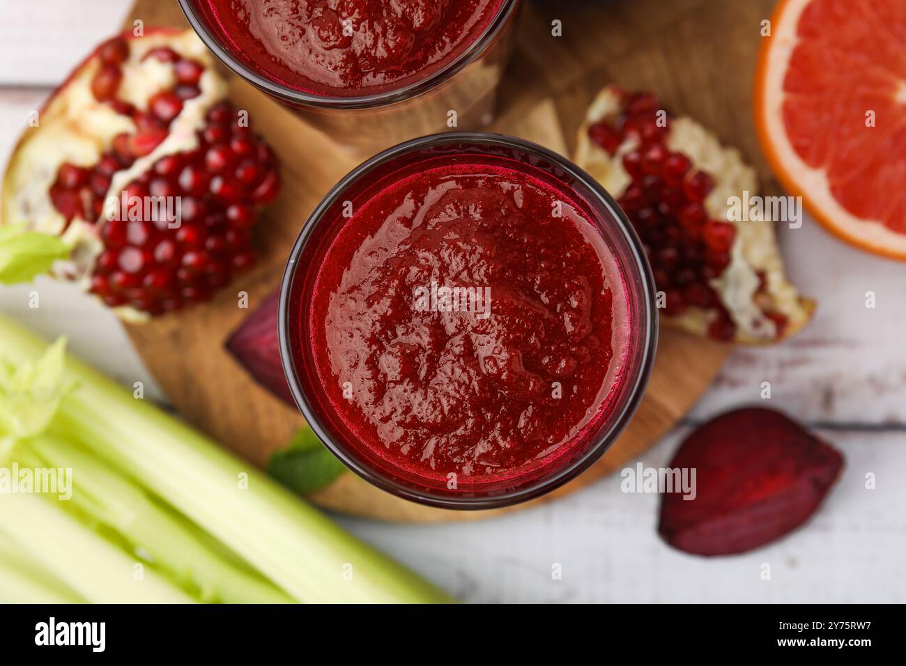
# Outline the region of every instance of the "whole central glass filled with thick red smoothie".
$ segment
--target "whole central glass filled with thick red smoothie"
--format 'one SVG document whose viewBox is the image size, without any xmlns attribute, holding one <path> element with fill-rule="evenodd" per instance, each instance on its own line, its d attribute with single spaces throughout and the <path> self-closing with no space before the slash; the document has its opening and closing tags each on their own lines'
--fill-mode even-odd
<svg viewBox="0 0 906 666">
<path fill-rule="evenodd" d="M 505 506 L 578 475 L 630 420 L 653 294 L 629 222 L 581 169 L 513 137 L 435 134 L 315 208 L 284 274 L 284 371 L 361 477 Z"/>
</svg>

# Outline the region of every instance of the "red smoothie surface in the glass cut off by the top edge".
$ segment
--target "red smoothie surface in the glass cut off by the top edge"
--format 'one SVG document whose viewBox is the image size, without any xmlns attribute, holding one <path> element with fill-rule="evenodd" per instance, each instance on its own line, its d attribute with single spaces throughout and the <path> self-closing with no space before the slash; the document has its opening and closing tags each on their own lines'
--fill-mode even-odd
<svg viewBox="0 0 906 666">
<path fill-rule="evenodd" d="M 354 97 L 456 59 L 506 0 L 197 0 L 218 39 L 287 88 Z"/>
</svg>

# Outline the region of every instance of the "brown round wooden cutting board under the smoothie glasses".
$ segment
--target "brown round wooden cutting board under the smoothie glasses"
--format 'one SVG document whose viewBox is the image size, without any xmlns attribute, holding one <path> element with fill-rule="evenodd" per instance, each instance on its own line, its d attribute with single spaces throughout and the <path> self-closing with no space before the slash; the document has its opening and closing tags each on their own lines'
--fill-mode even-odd
<svg viewBox="0 0 906 666">
<path fill-rule="evenodd" d="M 675 108 L 698 115 L 719 134 L 741 136 L 733 142 L 747 154 L 757 154 L 753 153 L 756 149 L 750 123 L 740 121 L 738 115 L 719 113 L 719 103 L 726 102 L 725 109 L 750 108 L 740 102 L 740 98 L 749 99 L 748 88 L 744 88 L 749 82 L 729 72 L 751 68 L 750 64 L 740 64 L 740 58 L 755 62 L 758 16 L 766 14 L 771 4 L 770 0 L 751 4 L 731 0 L 529 3 L 520 19 L 514 61 L 507 70 L 501 111 L 492 129 L 569 155 L 588 102 L 604 83 L 615 81 L 628 88 L 658 92 Z M 740 37 L 737 29 L 740 15 L 754 26 L 745 37 Z M 175 1 L 139 0 L 129 26 L 135 18 L 146 25 L 186 25 Z M 550 34 L 554 18 L 563 21 L 565 30 L 572 27 L 582 34 L 570 40 L 554 39 Z M 602 25 L 600 31 L 586 30 L 593 20 Z M 723 61 L 707 57 L 707 53 L 693 55 L 696 48 L 698 53 L 702 46 L 717 50 L 728 46 L 730 40 L 735 40 L 731 55 Z M 678 53 L 685 53 L 687 62 L 704 69 L 685 78 L 674 75 L 669 65 L 675 65 Z M 715 80 L 719 72 L 728 76 Z M 715 105 L 712 112 L 684 108 L 689 106 L 682 103 L 684 96 L 692 96 L 695 86 L 703 82 L 713 86 L 708 92 Z M 309 212 L 358 160 L 236 77 L 232 79 L 231 97 L 249 112 L 253 127 L 272 143 L 283 163 L 283 194 L 267 209 L 255 231 L 261 261 L 209 304 L 127 329 L 177 410 L 226 447 L 264 466 L 271 453 L 289 443 L 304 420 L 258 386 L 223 345 L 279 283 L 290 247 Z M 239 292 L 248 294 L 248 309 L 239 307 Z M 535 502 L 573 492 L 623 468 L 648 449 L 698 400 L 729 352 L 727 346 L 662 328 L 651 383 L 629 428 L 593 468 Z M 385 520 L 432 522 L 497 513 L 422 507 L 371 487 L 352 473 L 342 475 L 311 499 L 333 510 Z"/>
</svg>

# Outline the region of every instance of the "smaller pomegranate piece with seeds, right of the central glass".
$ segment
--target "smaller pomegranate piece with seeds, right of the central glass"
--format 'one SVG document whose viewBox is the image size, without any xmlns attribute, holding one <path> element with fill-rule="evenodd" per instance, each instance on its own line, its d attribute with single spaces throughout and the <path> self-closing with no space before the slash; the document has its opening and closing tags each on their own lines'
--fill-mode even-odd
<svg viewBox="0 0 906 666">
<path fill-rule="evenodd" d="M 664 323 L 739 343 L 776 342 L 808 323 L 814 303 L 786 279 L 773 224 L 728 216 L 730 198 L 756 194 L 754 170 L 697 122 L 649 92 L 607 87 L 575 161 L 639 234 Z"/>
</svg>

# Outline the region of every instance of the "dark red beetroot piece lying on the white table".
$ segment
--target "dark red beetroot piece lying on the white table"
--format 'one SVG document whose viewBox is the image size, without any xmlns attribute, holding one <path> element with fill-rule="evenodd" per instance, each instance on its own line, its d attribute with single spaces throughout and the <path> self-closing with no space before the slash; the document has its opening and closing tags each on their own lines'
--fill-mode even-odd
<svg viewBox="0 0 906 666">
<path fill-rule="evenodd" d="M 839 451 L 775 410 L 730 411 L 680 445 L 670 468 L 696 469 L 696 497 L 662 496 L 660 536 L 696 555 L 732 555 L 805 523 L 843 468 Z"/>
</svg>

